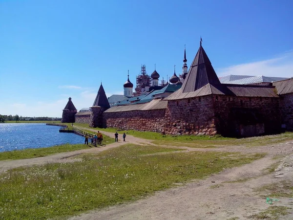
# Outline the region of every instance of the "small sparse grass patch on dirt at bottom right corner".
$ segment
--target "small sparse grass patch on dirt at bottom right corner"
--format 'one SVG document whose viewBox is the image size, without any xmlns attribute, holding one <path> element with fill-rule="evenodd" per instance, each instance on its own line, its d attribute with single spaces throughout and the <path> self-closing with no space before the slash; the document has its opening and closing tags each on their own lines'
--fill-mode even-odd
<svg viewBox="0 0 293 220">
<path fill-rule="evenodd" d="M 260 212 L 257 214 L 253 214 L 251 216 L 249 216 L 249 219 L 273 219 L 273 220 L 277 220 L 279 219 L 280 216 L 285 216 L 290 214 L 288 212 L 288 209 L 291 209 L 289 207 L 286 206 L 270 206 L 269 208 L 267 208 L 264 212 Z"/>
</svg>

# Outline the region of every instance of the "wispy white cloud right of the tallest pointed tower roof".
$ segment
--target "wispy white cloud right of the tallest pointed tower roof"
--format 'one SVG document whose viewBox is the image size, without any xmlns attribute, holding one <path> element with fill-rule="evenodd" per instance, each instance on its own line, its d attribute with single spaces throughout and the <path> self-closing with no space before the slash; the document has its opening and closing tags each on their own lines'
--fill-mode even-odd
<svg viewBox="0 0 293 220">
<path fill-rule="evenodd" d="M 293 52 L 287 52 L 277 58 L 239 64 L 226 68 L 217 69 L 217 75 L 249 75 L 249 76 L 275 76 L 275 77 L 293 77 Z"/>
</svg>

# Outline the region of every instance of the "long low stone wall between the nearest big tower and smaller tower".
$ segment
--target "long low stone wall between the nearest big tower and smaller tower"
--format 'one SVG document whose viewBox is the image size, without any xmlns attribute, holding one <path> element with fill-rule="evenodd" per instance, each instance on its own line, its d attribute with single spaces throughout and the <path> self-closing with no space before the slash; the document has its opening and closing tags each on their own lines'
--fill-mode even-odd
<svg viewBox="0 0 293 220">
<path fill-rule="evenodd" d="M 106 127 L 126 130 L 162 132 L 166 109 L 104 112 Z"/>
</svg>

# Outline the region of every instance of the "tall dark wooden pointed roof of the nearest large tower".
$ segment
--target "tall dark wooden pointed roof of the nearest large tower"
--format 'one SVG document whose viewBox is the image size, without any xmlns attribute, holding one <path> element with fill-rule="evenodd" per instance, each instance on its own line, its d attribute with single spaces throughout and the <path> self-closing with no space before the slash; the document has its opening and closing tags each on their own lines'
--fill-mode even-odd
<svg viewBox="0 0 293 220">
<path fill-rule="evenodd" d="M 182 85 L 183 92 L 192 92 L 207 84 L 221 84 L 200 41 L 199 49 Z"/>
</svg>

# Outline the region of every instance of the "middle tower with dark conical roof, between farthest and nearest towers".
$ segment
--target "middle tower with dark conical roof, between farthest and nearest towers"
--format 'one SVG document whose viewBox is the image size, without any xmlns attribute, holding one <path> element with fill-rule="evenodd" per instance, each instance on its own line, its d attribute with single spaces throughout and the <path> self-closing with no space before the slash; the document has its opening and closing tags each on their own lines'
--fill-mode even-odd
<svg viewBox="0 0 293 220">
<path fill-rule="evenodd" d="M 93 106 L 91 107 L 91 115 L 90 115 L 90 127 L 99 127 L 103 128 L 105 127 L 103 125 L 103 112 L 110 108 L 110 104 L 108 102 L 105 90 L 102 86 L 99 88 L 98 94 L 96 96 L 96 99 L 94 101 Z"/>
</svg>

